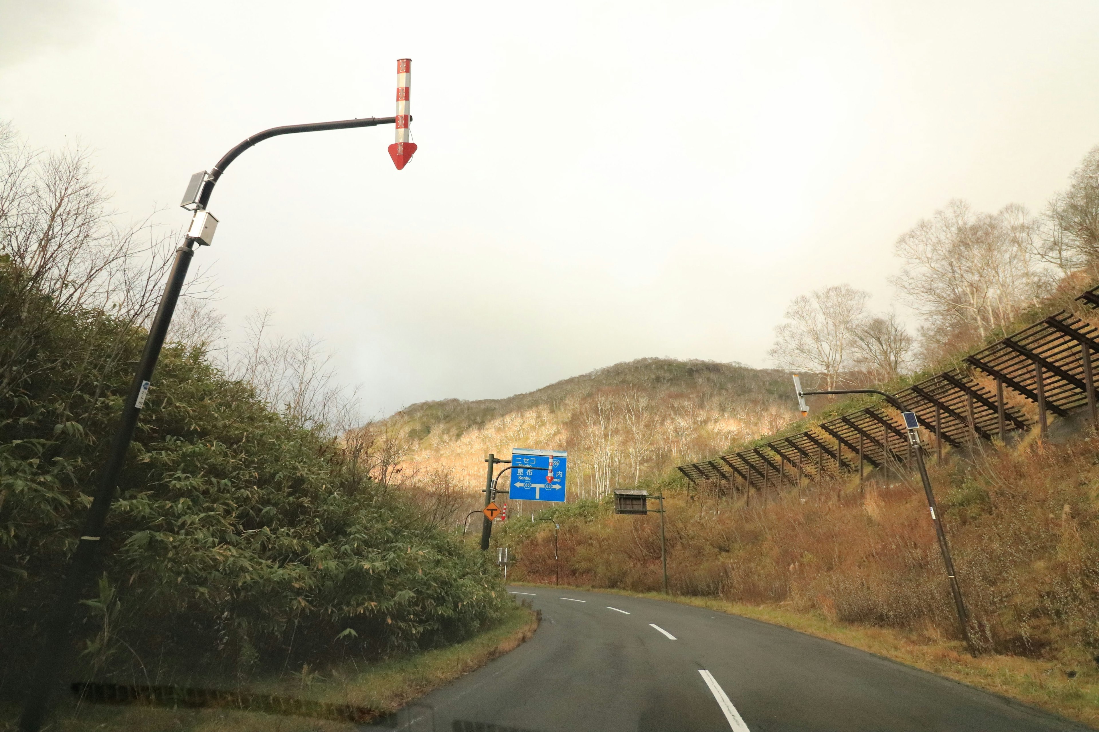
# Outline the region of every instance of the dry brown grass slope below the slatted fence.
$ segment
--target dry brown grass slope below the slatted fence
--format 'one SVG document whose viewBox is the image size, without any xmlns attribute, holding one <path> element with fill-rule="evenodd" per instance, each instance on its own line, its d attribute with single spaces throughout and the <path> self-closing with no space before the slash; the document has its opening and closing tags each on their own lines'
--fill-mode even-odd
<svg viewBox="0 0 1099 732">
<path fill-rule="evenodd" d="M 1023 698 L 1028 684 L 1064 682 L 1065 694 L 1090 689 L 1080 698 L 1099 707 L 1097 461 L 1095 436 L 1065 444 L 1030 436 L 1015 448 L 985 446 L 931 466 L 981 651 L 974 663 L 995 666 L 995 674 L 986 669 L 992 676 L 1019 676 L 1004 682 L 1004 694 Z M 924 657 L 910 661 L 924 667 L 947 667 L 964 649 L 926 503 L 910 477 L 773 491 L 767 500 L 753 496 L 750 507 L 742 498 L 712 496 L 668 503 L 668 568 L 677 595 L 818 617 L 833 629 L 900 633 L 904 644 L 923 649 L 925 657 L 904 653 Z M 553 582 L 552 532 L 517 554 L 517 579 Z M 655 516 L 563 526 L 560 556 L 563 583 L 660 587 Z M 904 660 L 900 653 L 886 655 Z"/>
</svg>

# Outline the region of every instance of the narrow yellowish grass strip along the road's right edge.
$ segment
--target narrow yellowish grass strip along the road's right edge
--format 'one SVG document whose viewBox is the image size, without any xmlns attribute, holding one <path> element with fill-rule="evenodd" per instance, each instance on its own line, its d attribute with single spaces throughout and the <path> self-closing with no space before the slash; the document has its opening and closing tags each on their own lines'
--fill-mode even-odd
<svg viewBox="0 0 1099 732">
<path fill-rule="evenodd" d="M 544 586 L 519 582 L 512 584 Z M 935 641 L 925 633 L 915 631 L 841 623 L 823 615 L 795 612 L 781 606 L 744 605 L 713 597 L 631 593 L 604 587 L 560 587 L 668 600 L 782 626 L 1010 697 L 1099 729 L 1099 662 L 1094 660 L 1089 660 L 1090 667 L 1081 663 L 1076 668 L 1065 668 L 1057 662 L 1013 655 L 986 654 L 974 658 L 966 653 L 962 642 Z"/>
</svg>

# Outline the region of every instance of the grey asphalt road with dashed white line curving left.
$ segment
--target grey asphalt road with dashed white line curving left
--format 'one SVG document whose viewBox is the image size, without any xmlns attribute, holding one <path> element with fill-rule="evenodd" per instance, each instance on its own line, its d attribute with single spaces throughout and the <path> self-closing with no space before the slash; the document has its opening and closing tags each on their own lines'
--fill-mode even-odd
<svg viewBox="0 0 1099 732">
<path fill-rule="evenodd" d="M 786 628 L 712 610 L 511 587 L 534 637 L 387 723 L 408 732 L 1085 730 Z"/>
</svg>

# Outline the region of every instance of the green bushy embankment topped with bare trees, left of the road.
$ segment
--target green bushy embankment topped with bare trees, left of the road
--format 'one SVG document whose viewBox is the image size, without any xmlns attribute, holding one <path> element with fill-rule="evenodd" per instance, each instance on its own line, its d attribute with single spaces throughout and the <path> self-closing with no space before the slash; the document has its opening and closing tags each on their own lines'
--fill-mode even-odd
<svg viewBox="0 0 1099 732">
<path fill-rule="evenodd" d="M 18 698 L 178 233 L 123 226 L 88 157 L 0 127 L 0 696 Z M 74 678 L 236 687 L 493 628 L 496 567 L 371 475 L 314 341 L 226 356 L 189 299 L 77 623 Z M 260 323 L 262 325 L 262 323 Z"/>
</svg>

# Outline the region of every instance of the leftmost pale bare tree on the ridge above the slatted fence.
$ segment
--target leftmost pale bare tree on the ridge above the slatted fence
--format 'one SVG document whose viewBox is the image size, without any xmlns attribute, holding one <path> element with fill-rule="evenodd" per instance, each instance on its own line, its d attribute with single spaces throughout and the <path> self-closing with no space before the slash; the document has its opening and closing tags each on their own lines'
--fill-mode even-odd
<svg viewBox="0 0 1099 732">
<path fill-rule="evenodd" d="M 869 293 L 839 284 L 799 295 L 775 328 L 769 353 L 793 371 L 824 374 L 824 388 L 835 388 L 850 359 L 853 330 L 866 311 Z"/>
</svg>

